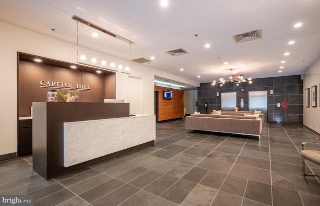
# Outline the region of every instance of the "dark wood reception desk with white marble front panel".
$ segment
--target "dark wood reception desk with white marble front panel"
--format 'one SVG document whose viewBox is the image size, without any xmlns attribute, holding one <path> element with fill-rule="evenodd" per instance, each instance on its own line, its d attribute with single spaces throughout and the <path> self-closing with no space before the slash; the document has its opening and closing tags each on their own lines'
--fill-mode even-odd
<svg viewBox="0 0 320 206">
<path fill-rule="evenodd" d="M 128 103 L 33 102 L 33 170 L 45 179 L 152 145 L 155 116 Z"/>
</svg>

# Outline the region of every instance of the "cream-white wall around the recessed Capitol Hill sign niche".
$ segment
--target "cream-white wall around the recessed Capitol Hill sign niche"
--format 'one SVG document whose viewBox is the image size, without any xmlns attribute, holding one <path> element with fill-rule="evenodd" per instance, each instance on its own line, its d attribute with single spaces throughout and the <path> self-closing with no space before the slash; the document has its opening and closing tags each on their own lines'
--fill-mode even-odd
<svg viewBox="0 0 320 206">
<path fill-rule="evenodd" d="M 76 45 L 0 22 L 0 155 L 17 151 L 17 60 L 23 52 L 41 57 L 76 63 Z M 104 56 L 117 64 L 127 60 L 87 49 L 97 57 Z M 131 63 L 131 74 L 143 78 L 143 113 L 154 113 L 154 75 L 199 86 L 197 82 Z M 128 75 L 116 73 L 116 99 L 128 101 Z"/>
</svg>

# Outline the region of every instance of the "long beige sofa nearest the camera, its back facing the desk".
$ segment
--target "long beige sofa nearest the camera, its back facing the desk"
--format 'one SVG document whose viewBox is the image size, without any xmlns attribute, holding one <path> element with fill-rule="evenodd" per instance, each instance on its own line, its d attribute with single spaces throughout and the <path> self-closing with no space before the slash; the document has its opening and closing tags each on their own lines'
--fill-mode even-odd
<svg viewBox="0 0 320 206">
<path fill-rule="evenodd" d="M 240 112 L 241 113 L 241 112 Z M 231 134 L 258 136 L 261 138 L 261 117 L 219 114 L 191 114 L 185 118 L 185 128 Z"/>
</svg>

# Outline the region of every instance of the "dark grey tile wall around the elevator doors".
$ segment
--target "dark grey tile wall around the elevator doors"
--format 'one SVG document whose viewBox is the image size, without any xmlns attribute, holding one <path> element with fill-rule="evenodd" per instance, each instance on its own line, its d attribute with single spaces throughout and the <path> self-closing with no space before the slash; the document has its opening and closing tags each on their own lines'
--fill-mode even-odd
<svg viewBox="0 0 320 206">
<path fill-rule="evenodd" d="M 249 91 L 267 91 L 267 121 L 303 123 L 303 80 L 300 79 L 300 75 L 253 79 L 252 84 L 240 83 L 239 86 L 230 82 L 222 87 L 213 86 L 212 83 L 201 83 L 198 87 L 198 110 L 205 114 L 205 103 L 208 104 L 207 113 L 213 109 L 220 110 L 221 92 L 236 92 L 238 111 L 248 111 Z M 243 108 L 240 108 L 241 99 L 244 100 Z M 282 102 L 287 102 L 287 109 L 282 109 Z M 277 107 L 277 103 L 280 103 L 280 107 Z"/>
</svg>

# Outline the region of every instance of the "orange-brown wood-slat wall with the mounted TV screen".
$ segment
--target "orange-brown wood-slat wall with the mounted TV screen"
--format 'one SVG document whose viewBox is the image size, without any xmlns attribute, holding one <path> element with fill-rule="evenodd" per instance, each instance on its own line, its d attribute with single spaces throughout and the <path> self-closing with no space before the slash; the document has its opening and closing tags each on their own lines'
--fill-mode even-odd
<svg viewBox="0 0 320 206">
<path fill-rule="evenodd" d="M 172 99 L 163 99 L 163 90 L 172 90 Z M 184 91 L 167 87 L 154 86 L 158 91 L 158 119 L 157 121 L 182 118 L 184 116 Z"/>
</svg>

